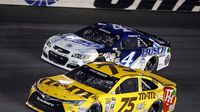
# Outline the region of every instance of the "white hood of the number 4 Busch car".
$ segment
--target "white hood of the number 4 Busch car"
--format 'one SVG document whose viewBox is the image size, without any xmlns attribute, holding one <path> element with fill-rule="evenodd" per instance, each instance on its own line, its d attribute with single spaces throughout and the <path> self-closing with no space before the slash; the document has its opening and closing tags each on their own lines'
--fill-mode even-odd
<svg viewBox="0 0 200 112">
<path fill-rule="evenodd" d="M 88 41 L 72 33 L 55 35 L 50 38 L 50 41 L 53 45 L 78 53 L 103 48 L 102 45 Z"/>
</svg>

